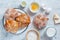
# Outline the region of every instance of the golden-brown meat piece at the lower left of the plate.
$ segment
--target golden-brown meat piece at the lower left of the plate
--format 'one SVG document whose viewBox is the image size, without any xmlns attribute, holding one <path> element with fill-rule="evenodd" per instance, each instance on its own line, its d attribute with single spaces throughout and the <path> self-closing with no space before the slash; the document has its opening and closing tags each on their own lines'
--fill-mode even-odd
<svg viewBox="0 0 60 40">
<path fill-rule="evenodd" d="M 14 20 L 6 20 L 4 27 L 8 32 L 16 33 L 18 30 L 18 23 Z"/>
</svg>

